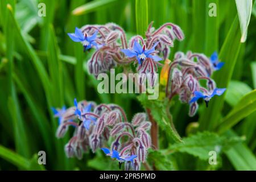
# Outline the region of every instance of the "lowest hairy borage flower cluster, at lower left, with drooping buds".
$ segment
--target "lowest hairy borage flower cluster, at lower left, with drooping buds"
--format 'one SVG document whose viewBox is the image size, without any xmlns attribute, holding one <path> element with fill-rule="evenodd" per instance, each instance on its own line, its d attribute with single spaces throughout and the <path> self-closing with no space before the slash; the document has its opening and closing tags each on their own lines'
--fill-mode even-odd
<svg viewBox="0 0 256 182">
<path fill-rule="evenodd" d="M 93 152 L 113 140 L 111 149 L 102 148 L 106 155 L 125 163 L 125 169 L 139 170 L 141 162 L 146 161 L 151 137 L 147 133 L 151 122 L 146 121 L 145 113 L 134 115 L 131 122 L 121 107 L 114 104 L 96 105 L 94 102 L 74 100 L 73 107 L 54 109 L 59 118 L 57 138 L 63 138 L 69 126 L 75 127 L 73 137 L 65 145 L 68 158 L 82 158 L 83 152 L 90 148 Z"/>
</svg>

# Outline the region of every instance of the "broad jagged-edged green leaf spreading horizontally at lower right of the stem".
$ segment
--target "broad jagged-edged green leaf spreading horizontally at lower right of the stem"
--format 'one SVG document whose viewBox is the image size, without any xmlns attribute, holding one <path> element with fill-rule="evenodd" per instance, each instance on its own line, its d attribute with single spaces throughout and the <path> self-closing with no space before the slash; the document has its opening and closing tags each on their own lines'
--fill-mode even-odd
<svg viewBox="0 0 256 182">
<path fill-rule="evenodd" d="M 226 138 L 204 131 L 203 133 L 183 138 L 183 143 L 172 144 L 169 150 L 171 152 L 186 152 L 197 156 L 201 160 L 208 160 L 210 151 L 216 151 L 217 155 L 220 155 L 222 151 L 227 150 L 238 142 L 241 142 L 241 138 Z"/>
</svg>

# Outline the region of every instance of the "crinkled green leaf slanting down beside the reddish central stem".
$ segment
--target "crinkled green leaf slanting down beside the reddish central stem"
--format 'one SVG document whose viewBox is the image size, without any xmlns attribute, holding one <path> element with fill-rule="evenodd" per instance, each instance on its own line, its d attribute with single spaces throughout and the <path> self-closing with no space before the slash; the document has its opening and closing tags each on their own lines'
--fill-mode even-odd
<svg viewBox="0 0 256 182">
<path fill-rule="evenodd" d="M 146 94 L 141 94 L 137 97 L 144 108 L 150 109 L 152 117 L 158 123 L 163 131 L 166 131 L 167 135 L 170 135 L 175 142 L 182 142 L 180 135 L 177 133 L 172 121 L 167 116 L 166 108 L 167 101 L 148 100 Z"/>
</svg>

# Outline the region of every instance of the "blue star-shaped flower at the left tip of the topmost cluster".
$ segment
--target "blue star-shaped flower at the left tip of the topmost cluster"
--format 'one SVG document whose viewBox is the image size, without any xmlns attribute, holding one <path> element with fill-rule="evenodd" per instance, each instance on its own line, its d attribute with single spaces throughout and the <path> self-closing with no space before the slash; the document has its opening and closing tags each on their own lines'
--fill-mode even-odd
<svg viewBox="0 0 256 182">
<path fill-rule="evenodd" d="M 95 31 L 92 36 L 88 36 L 86 33 L 85 35 L 82 34 L 82 31 L 76 27 L 75 34 L 68 33 L 68 36 L 74 41 L 74 42 L 81 42 L 82 46 L 84 46 L 84 51 L 92 48 L 95 46 L 96 48 L 100 48 L 100 45 L 96 43 L 98 31 Z"/>
</svg>

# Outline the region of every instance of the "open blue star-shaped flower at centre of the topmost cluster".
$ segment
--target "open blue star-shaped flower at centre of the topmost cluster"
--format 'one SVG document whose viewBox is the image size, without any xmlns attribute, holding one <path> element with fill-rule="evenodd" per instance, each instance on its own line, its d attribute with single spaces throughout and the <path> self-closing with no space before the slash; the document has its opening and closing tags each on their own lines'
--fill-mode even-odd
<svg viewBox="0 0 256 182">
<path fill-rule="evenodd" d="M 133 49 L 121 49 L 121 51 L 123 53 L 125 53 L 125 55 L 127 57 L 137 57 L 138 63 L 140 65 L 142 65 L 143 61 L 148 57 L 153 59 L 154 61 L 160 61 L 162 60 L 161 57 L 159 56 L 154 56 L 152 54 L 154 54 L 155 51 L 155 47 L 158 45 L 159 42 L 156 42 L 154 44 L 154 46 L 151 49 L 146 49 L 146 45 L 144 44 L 143 47 L 141 47 L 141 44 L 139 44 L 137 41 L 134 42 L 133 45 Z"/>
</svg>

